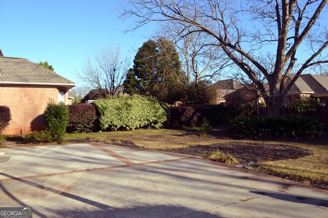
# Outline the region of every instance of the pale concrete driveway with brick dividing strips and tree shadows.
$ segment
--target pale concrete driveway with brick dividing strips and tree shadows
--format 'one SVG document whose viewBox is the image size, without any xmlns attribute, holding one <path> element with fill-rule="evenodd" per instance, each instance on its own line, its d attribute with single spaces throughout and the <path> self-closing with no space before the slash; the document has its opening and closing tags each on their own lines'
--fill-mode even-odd
<svg viewBox="0 0 328 218">
<path fill-rule="evenodd" d="M 1 149 L 0 206 L 33 217 L 328 217 L 328 194 L 187 156 L 99 144 Z"/>
</svg>

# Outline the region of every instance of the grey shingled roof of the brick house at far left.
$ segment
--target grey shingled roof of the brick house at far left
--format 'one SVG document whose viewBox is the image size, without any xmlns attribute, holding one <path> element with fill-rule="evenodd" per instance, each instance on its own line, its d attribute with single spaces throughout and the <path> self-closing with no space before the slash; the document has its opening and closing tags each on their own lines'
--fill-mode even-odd
<svg viewBox="0 0 328 218">
<path fill-rule="evenodd" d="M 0 84 L 58 85 L 73 88 L 76 84 L 26 58 L 0 57 Z"/>
</svg>

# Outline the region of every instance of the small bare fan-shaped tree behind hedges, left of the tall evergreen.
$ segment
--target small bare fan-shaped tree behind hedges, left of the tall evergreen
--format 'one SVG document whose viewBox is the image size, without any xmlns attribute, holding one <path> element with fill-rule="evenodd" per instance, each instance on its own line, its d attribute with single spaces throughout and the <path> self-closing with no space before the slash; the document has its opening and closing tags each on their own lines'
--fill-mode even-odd
<svg viewBox="0 0 328 218">
<path fill-rule="evenodd" d="M 121 54 L 120 47 L 100 48 L 88 57 L 77 72 L 78 77 L 91 89 L 97 89 L 105 97 L 118 94 L 130 67 L 130 60 Z"/>
</svg>

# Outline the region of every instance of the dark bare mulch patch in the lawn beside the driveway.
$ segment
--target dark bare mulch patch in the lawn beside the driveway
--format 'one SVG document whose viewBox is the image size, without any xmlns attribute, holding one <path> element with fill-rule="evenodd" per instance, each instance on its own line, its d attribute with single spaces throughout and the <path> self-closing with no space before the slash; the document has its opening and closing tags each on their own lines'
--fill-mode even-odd
<svg viewBox="0 0 328 218">
<path fill-rule="evenodd" d="M 189 154 L 201 157 L 207 157 L 208 154 L 214 150 L 220 150 L 226 154 L 231 154 L 238 161 L 258 162 L 268 160 L 283 160 L 283 159 L 296 159 L 310 155 L 311 151 L 300 149 L 292 146 L 279 146 L 267 144 L 250 144 L 250 143 L 225 143 L 213 145 L 197 145 L 187 148 L 169 149 L 168 152 L 179 154 Z"/>
</svg>

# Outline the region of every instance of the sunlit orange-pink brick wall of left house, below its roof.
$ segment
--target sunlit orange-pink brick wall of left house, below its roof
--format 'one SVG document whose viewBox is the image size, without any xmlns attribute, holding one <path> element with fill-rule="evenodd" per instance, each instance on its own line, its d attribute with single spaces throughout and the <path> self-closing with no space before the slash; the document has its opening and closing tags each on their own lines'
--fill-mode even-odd
<svg viewBox="0 0 328 218">
<path fill-rule="evenodd" d="M 44 125 L 43 112 L 48 99 L 58 103 L 57 88 L 0 86 L 0 105 L 10 108 L 12 119 L 2 134 L 18 135 L 32 130 L 40 130 Z M 66 100 L 65 90 L 65 103 Z"/>
</svg>

